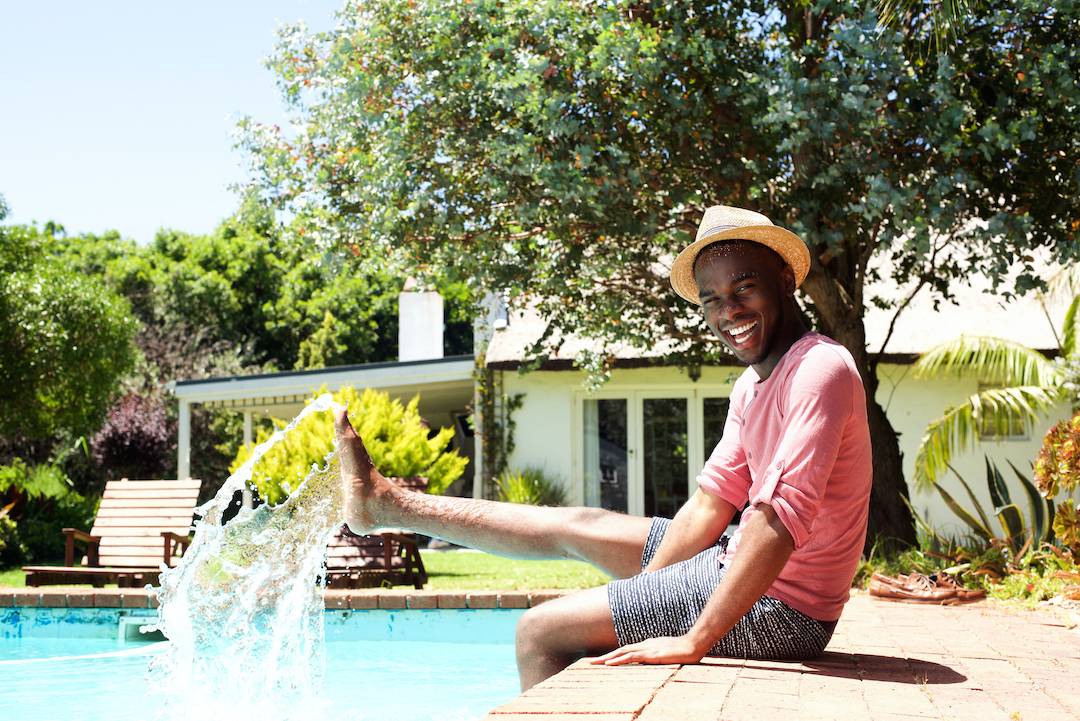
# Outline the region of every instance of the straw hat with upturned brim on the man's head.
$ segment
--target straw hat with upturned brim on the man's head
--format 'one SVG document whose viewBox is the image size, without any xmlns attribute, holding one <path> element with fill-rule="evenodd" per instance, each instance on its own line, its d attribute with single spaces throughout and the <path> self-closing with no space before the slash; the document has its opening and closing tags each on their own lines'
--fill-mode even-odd
<svg viewBox="0 0 1080 721">
<path fill-rule="evenodd" d="M 701 304 L 698 299 L 698 281 L 693 277 L 693 261 L 706 245 L 717 241 L 753 241 L 772 248 L 795 271 L 795 287 L 799 287 L 810 272 L 810 250 L 798 235 L 773 226 L 760 213 L 714 205 L 705 210 L 698 226 L 698 237 L 672 263 L 672 287 L 691 303 Z"/>
</svg>

